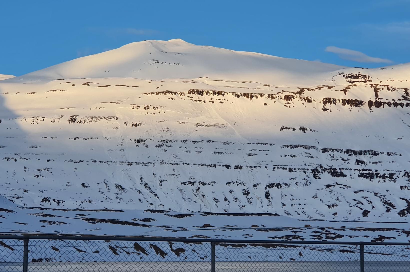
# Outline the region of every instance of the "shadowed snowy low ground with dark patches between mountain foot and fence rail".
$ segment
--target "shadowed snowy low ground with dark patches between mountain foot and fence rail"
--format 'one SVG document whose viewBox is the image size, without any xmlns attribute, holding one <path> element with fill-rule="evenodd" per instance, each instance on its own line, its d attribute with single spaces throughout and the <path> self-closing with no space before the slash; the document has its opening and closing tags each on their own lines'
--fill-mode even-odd
<svg viewBox="0 0 410 272">
<path fill-rule="evenodd" d="M 3 226 L 2 231 L 10 234 L 407 242 L 410 227 L 407 222 L 303 220 L 278 214 L 27 208 L 2 197 L 0 204 L 8 222 L 8 230 Z"/>
</svg>

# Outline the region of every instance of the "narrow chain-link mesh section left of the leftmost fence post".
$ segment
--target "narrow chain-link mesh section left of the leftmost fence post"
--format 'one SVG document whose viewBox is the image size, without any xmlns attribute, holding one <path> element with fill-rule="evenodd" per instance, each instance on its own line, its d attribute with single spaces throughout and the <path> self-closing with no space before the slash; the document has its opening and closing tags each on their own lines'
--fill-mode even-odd
<svg viewBox="0 0 410 272">
<path fill-rule="evenodd" d="M 23 271 L 23 240 L 0 240 L 0 271 Z"/>
</svg>

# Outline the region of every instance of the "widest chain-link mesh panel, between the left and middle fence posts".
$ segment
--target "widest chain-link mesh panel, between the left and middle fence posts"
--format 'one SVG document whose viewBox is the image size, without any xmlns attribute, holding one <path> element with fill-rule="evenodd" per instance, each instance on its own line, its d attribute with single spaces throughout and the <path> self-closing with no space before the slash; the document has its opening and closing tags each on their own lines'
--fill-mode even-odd
<svg viewBox="0 0 410 272">
<path fill-rule="evenodd" d="M 210 243 L 30 240 L 29 272 L 211 271 Z"/>
</svg>

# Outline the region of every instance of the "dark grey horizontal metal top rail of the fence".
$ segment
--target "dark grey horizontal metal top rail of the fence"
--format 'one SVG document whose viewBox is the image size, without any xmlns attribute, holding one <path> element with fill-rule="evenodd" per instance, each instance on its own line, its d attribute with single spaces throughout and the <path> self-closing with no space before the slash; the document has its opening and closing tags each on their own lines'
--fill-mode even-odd
<svg viewBox="0 0 410 272">
<path fill-rule="evenodd" d="M 0 239 L 16 240 L 96 240 L 96 241 L 140 241 L 140 242 L 182 242 L 182 243 L 240 243 L 240 244 L 304 244 L 304 245 L 405 245 L 410 243 L 349 242 L 349 241 L 283 241 L 283 240 L 237 240 L 237 239 L 193 239 L 147 236 L 85 236 L 85 235 L 3 235 Z"/>
</svg>

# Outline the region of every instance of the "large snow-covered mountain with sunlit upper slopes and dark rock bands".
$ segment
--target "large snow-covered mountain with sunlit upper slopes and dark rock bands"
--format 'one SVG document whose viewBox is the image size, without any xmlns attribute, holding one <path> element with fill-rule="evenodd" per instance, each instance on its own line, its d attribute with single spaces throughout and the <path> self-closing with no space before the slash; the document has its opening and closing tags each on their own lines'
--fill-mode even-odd
<svg viewBox="0 0 410 272">
<path fill-rule="evenodd" d="M 409 80 L 410 64 L 180 39 L 77 58 L 0 82 L 1 194 L 22 207 L 405 222 Z"/>
</svg>

